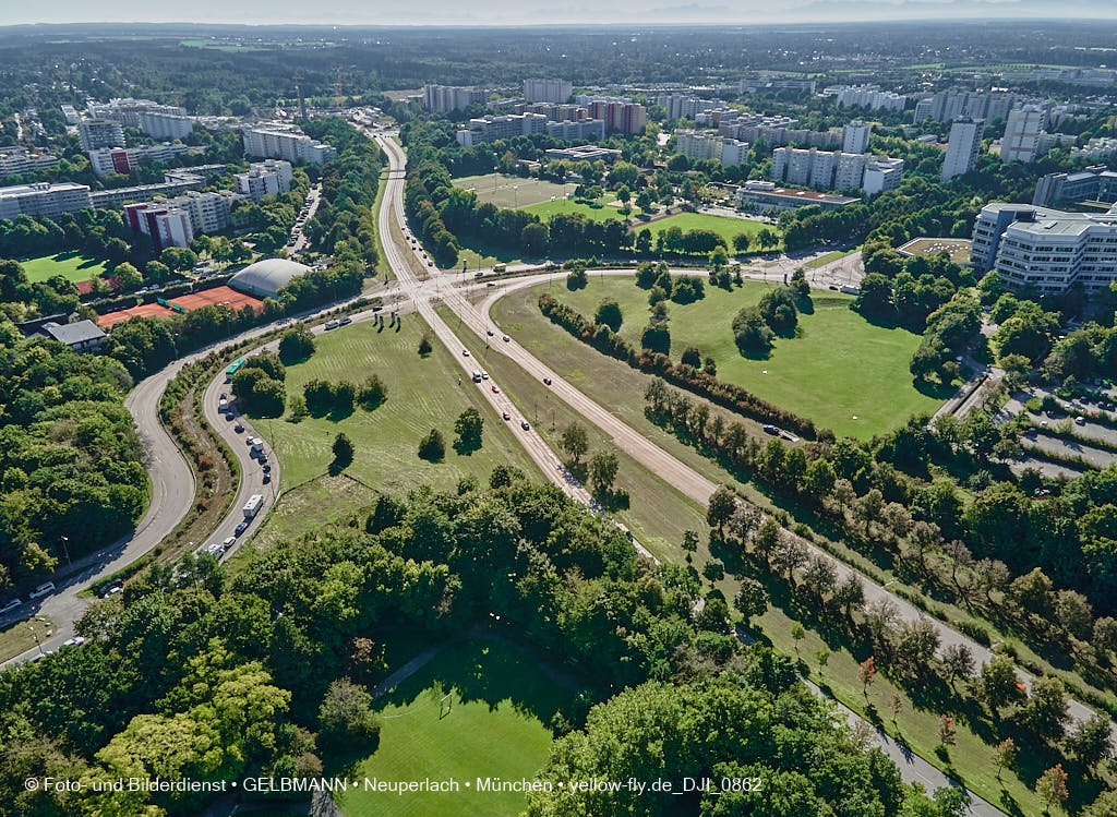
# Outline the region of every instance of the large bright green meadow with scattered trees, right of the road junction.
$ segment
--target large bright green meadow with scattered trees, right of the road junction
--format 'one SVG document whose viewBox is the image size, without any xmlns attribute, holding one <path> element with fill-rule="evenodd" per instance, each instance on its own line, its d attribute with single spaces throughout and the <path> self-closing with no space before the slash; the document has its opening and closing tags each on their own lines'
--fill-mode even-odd
<svg viewBox="0 0 1117 817">
<path fill-rule="evenodd" d="M 934 411 L 945 399 L 923 393 L 913 383 L 908 361 L 919 336 L 869 323 L 849 308 L 848 295 L 815 292 L 814 314 L 800 315 L 800 336 L 777 339 L 767 359 L 743 357 L 733 340 L 733 317 L 774 285 L 746 281 L 732 292 L 707 286 L 701 301 L 671 304 L 671 359 L 678 361 L 693 344 L 704 358 L 714 358 L 718 379 L 832 428 L 838 436 L 881 434 L 913 414 Z M 621 335 L 639 344 L 648 294 L 632 278 L 591 276 L 585 289 L 571 293 L 556 286 L 552 292 L 588 319 L 602 300 L 615 300 L 624 315 Z M 564 333 L 540 313 L 538 293 L 540 287 L 531 287 L 509 295 L 497 304 L 496 316 L 502 325 L 506 320 L 523 323 L 528 348 L 547 360 L 555 335 Z"/>
</svg>

